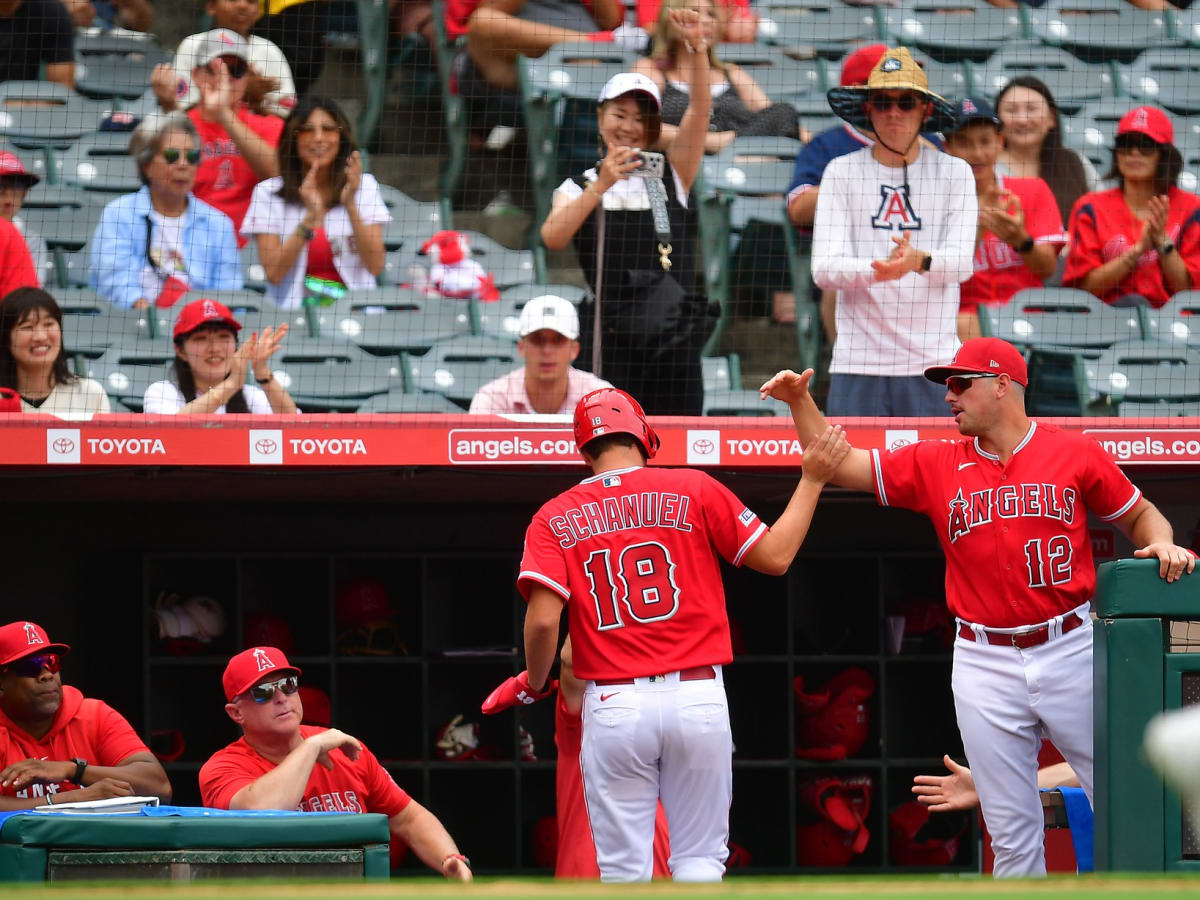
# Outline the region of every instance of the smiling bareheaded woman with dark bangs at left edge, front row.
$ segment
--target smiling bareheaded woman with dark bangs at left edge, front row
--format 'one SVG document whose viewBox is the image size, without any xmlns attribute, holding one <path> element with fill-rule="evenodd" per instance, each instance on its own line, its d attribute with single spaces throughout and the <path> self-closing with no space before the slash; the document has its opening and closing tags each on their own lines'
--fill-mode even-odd
<svg viewBox="0 0 1200 900">
<path fill-rule="evenodd" d="M 62 311 L 41 288 L 17 288 L 0 304 L 0 388 L 16 390 L 25 413 L 76 419 L 109 412 L 104 389 L 67 368 Z"/>
</svg>

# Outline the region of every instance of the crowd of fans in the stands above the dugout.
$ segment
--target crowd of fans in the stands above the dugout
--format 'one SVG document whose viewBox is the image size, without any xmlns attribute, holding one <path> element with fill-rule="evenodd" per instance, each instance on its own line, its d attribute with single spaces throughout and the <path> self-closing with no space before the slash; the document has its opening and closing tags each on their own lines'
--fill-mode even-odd
<svg viewBox="0 0 1200 900">
<path fill-rule="evenodd" d="M 240 289 L 251 241 L 274 307 L 376 287 L 391 215 L 344 112 L 311 92 L 325 6 L 205 0 L 214 28 L 150 77 L 156 110 L 128 145 L 143 186 L 107 204 L 89 242 L 88 281 L 101 298 L 172 308 L 188 292 Z M 77 25 L 145 30 L 152 19 L 149 0 L 0 0 L 0 80 L 73 88 Z M 480 391 L 472 412 L 558 412 L 580 392 L 581 358 L 590 379 L 634 391 L 652 414 L 701 413 L 712 311 L 698 289 L 694 185 L 703 155 L 739 136 L 806 142 L 785 203 L 812 241 L 833 414 L 941 414 L 941 392 L 920 372 L 979 335 L 980 307 L 1021 289 L 1062 284 L 1160 307 L 1194 286 L 1200 197 L 1178 186 L 1183 160 L 1162 109 L 1130 103 L 1100 176 L 1063 145 L 1058 106 L 1036 77 L 1013 78 L 994 102 L 942 97 L 906 49 L 874 44 L 845 56 L 829 91 L 844 122 L 811 136 L 793 106 L 721 60 L 720 44 L 752 41 L 757 24 L 744 0 L 638 0 L 628 24 L 616 0 L 446 5 L 448 31 L 467 38 L 456 62 L 464 92 L 514 91 L 516 58 L 560 41 L 643 53 L 600 96 L 601 158 L 562 182 L 540 230 L 550 250 L 574 245 L 599 302 L 568 314 L 566 301 L 540 298 L 546 320 L 523 314 L 518 325 L 526 366 Z M 649 150 L 661 152 L 660 169 L 644 170 Z M 102 391 L 68 371 L 54 299 L 28 293 L 54 269 L 46 235 L 20 216 L 40 180 L 0 151 L 0 296 L 13 292 L 0 382 L 26 409 L 103 412 Z M 172 310 L 174 376 L 148 392 L 146 409 L 294 410 L 286 390 L 259 378 L 287 328 L 239 346 L 234 316 L 205 302 Z M 251 367 L 259 386 L 246 384 Z"/>
</svg>

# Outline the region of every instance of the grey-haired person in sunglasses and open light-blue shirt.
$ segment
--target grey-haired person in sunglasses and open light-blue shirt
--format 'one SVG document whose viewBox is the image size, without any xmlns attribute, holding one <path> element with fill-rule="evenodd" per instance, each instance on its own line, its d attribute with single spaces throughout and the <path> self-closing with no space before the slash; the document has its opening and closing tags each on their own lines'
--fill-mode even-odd
<svg viewBox="0 0 1200 900">
<path fill-rule="evenodd" d="M 89 282 L 122 308 L 172 306 L 187 290 L 236 290 L 233 222 L 192 192 L 200 161 L 182 113 L 152 114 L 130 140 L 143 187 L 104 206 L 91 239 Z"/>
</svg>

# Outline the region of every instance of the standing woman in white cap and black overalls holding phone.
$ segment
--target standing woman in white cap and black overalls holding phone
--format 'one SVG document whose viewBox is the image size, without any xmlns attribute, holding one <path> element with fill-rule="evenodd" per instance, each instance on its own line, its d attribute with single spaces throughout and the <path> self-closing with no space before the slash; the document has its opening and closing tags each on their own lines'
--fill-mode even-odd
<svg viewBox="0 0 1200 900">
<path fill-rule="evenodd" d="M 604 158 L 554 191 L 541 239 L 550 250 L 575 244 L 596 296 L 598 310 L 581 310 L 583 365 L 590 361 L 595 374 L 638 397 L 650 415 L 700 415 L 700 356 L 710 320 L 696 290 L 691 187 L 713 101 L 700 14 L 672 10 L 671 18 L 684 37 L 691 90 L 665 158 L 642 149 L 662 131 L 658 85 L 643 74 L 614 76 L 600 92 Z"/>
</svg>

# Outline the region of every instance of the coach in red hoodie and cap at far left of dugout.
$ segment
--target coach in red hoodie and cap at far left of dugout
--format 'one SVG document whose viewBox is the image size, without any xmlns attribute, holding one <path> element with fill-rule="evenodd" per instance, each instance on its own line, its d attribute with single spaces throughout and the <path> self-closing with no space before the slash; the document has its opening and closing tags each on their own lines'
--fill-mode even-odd
<svg viewBox="0 0 1200 900">
<path fill-rule="evenodd" d="M 65 643 L 0 628 L 0 812 L 131 794 L 170 802 L 167 773 L 125 718 L 62 684 Z"/>
</svg>

